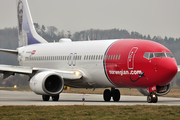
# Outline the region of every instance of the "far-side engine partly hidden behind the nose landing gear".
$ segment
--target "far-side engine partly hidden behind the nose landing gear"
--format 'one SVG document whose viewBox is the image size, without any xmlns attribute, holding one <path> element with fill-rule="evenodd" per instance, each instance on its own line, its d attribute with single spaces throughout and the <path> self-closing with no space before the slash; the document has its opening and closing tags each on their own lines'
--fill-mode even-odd
<svg viewBox="0 0 180 120">
<path fill-rule="evenodd" d="M 166 86 L 156 86 L 157 88 L 157 95 L 158 96 L 162 96 L 162 95 L 166 95 L 170 92 L 171 90 L 171 85 L 170 83 Z M 150 95 L 150 93 L 147 91 L 146 88 L 142 88 L 142 89 L 137 89 L 141 94 L 143 94 L 144 96 L 148 96 Z"/>
</svg>

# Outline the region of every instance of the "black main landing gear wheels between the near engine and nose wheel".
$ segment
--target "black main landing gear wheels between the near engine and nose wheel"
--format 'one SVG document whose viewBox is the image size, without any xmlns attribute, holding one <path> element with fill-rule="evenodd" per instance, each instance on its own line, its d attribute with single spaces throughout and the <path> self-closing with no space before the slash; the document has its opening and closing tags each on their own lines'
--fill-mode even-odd
<svg viewBox="0 0 180 120">
<path fill-rule="evenodd" d="M 119 101 L 121 97 L 120 91 L 115 88 L 111 88 L 111 91 L 109 89 L 104 90 L 103 93 L 104 101 L 110 101 L 111 97 L 113 97 L 113 100 L 115 102 Z"/>
</svg>

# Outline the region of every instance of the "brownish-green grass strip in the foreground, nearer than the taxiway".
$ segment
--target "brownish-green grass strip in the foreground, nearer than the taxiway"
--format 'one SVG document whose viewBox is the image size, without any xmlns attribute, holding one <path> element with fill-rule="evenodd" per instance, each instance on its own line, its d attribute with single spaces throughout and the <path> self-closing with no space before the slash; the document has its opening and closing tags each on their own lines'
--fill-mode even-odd
<svg viewBox="0 0 180 120">
<path fill-rule="evenodd" d="M 180 106 L 3 106 L 1 120 L 179 120 Z"/>
</svg>

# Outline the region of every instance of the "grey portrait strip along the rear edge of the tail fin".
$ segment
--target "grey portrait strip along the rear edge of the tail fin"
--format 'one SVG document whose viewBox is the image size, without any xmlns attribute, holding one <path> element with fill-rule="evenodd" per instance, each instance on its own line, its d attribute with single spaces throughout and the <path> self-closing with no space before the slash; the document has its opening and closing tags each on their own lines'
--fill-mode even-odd
<svg viewBox="0 0 180 120">
<path fill-rule="evenodd" d="M 28 45 L 27 33 L 23 29 L 23 3 L 21 0 L 18 0 L 17 4 L 17 17 L 18 17 L 18 37 L 19 37 L 19 47 Z"/>
</svg>

